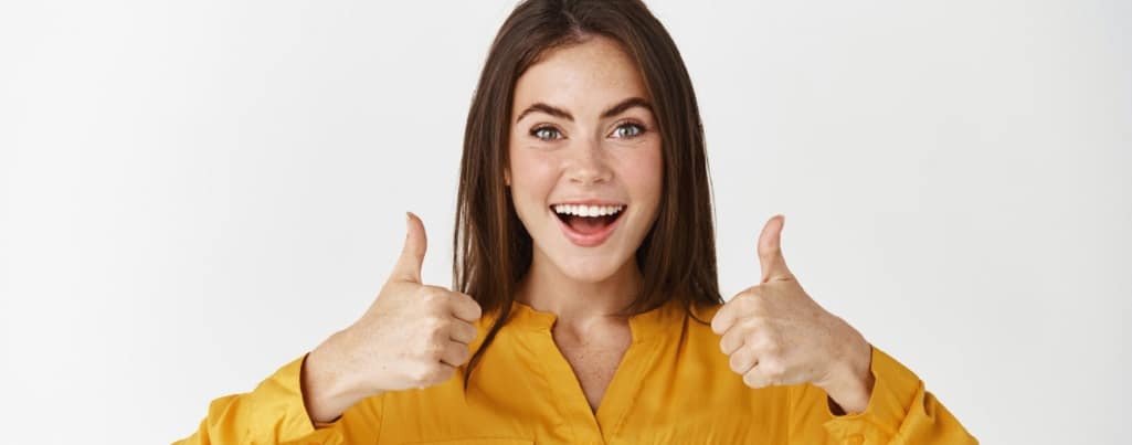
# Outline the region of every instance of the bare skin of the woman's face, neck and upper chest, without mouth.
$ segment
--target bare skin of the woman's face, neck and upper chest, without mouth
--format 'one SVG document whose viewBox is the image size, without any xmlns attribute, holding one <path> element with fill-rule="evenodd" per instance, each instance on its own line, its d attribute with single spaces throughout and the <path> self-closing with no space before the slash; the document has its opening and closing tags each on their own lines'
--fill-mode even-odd
<svg viewBox="0 0 1132 445">
<path fill-rule="evenodd" d="M 557 315 L 555 341 L 593 410 L 632 341 L 627 318 L 611 314 L 641 289 L 633 257 L 660 205 L 663 157 L 649 97 L 633 60 L 604 37 L 543 54 L 515 86 L 504 174 L 534 246 L 516 299 Z M 633 99 L 642 103 L 607 112 Z M 550 207 L 566 199 L 626 207 L 609 239 L 581 247 Z"/>
</svg>

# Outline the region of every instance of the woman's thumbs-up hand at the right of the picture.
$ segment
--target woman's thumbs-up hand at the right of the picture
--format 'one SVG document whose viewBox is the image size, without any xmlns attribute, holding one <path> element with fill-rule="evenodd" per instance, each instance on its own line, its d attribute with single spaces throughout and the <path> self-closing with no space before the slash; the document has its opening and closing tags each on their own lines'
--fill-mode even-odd
<svg viewBox="0 0 1132 445">
<path fill-rule="evenodd" d="M 844 411 L 864 411 L 873 392 L 872 345 L 795 280 L 782 257 L 783 223 L 772 217 L 758 237 L 762 283 L 724 303 L 712 331 L 747 386 L 811 383 Z"/>
</svg>

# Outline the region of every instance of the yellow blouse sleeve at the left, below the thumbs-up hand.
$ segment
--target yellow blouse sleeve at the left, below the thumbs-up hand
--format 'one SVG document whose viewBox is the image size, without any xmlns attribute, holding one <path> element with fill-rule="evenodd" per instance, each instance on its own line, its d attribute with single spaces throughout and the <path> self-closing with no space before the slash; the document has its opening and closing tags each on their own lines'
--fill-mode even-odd
<svg viewBox="0 0 1132 445">
<path fill-rule="evenodd" d="M 331 422 L 314 422 L 302 399 L 302 363 L 284 365 L 250 393 L 213 400 L 200 427 L 180 445 L 377 443 L 380 395 L 358 402 Z"/>
</svg>

